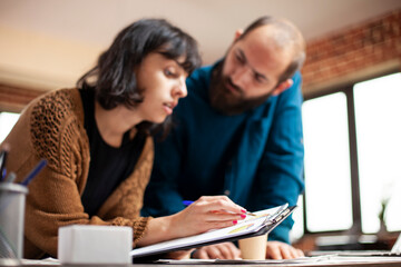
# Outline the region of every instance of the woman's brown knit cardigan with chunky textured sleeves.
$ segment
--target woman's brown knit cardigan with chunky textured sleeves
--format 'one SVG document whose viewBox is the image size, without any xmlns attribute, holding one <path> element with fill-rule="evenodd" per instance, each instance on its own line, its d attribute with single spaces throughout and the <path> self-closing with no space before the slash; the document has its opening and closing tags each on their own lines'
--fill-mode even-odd
<svg viewBox="0 0 401 267">
<path fill-rule="evenodd" d="M 91 218 L 84 211 L 80 199 L 90 157 L 77 89 L 52 91 L 33 100 L 6 142 L 10 145 L 7 170 L 14 171 L 19 181 L 41 158 L 48 160 L 48 166 L 28 187 L 25 258 L 40 258 L 45 254 L 57 257 L 58 228 L 66 225 L 130 226 L 134 228 L 133 246 L 144 235 L 151 219 L 139 217 L 154 159 L 150 137 L 133 174 Z"/>
</svg>

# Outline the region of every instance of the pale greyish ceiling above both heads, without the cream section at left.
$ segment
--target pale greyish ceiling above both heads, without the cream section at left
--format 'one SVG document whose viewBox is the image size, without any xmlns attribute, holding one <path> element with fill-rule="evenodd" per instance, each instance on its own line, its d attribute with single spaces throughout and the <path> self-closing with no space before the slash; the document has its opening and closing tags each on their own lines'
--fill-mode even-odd
<svg viewBox="0 0 401 267">
<path fill-rule="evenodd" d="M 397 8 L 400 0 L 0 0 L 0 26 L 107 47 L 134 20 L 166 18 L 212 62 L 236 29 L 263 14 L 292 20 L 311 40 Z"/>
</svg>

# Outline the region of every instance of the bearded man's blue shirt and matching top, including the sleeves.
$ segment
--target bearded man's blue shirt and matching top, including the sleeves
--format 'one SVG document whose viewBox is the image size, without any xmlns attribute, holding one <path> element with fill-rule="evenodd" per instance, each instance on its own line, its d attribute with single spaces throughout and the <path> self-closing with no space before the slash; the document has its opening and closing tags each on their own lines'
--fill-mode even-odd
<svg viewBox="0 0 401 267">
<path fill-rule="evenodd" d="M 293 86 L 260 107 L 236 116 L 209 105 L 213 67 L 187 79 L 188 97 L 174 110 L 176 127 L 163 142 L 155 140 L 155 164 L 145 194 L 144 215 L 165 216 L 182 201 L 227 195 L 247 210 L 288 202 L 303 190 L 301 75 Z M 288 243 L 291 218 L 270 235 Z"/>
</svg>

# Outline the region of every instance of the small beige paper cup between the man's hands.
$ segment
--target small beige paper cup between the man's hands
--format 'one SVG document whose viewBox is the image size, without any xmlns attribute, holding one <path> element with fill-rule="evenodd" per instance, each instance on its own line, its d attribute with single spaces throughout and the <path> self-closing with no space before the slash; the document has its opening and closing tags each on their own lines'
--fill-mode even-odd
<svg viewBox="0 0 401 267">
<path fill-rule="evenodd" d="M 241 257 L 243 259 L 265 259 L 267 234 L 238 240 Z"/>
</svg>

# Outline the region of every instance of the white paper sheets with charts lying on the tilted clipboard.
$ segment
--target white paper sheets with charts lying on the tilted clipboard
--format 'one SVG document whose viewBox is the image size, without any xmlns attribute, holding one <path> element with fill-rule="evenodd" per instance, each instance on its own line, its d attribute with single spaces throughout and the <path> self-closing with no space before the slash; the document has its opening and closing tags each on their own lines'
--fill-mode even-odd
<svg viewBox="0 0 401 267">
<path fill-rule="evenodd" d="M 231 227 L 136 248 L 131 250 L 130 256 L 134 258 L 138 256 L 147 256 L 155 253 L 164 253 L 166 249 L 173 250 L 186 246 L 196 246 L 207 241 L 216 241 L 221 239 L 238 237 L 245 234 L 256 233 L 261 228 L 265 227 L 266 224 L 273 224 L 273 219 L 275 219 L 278 214 L 286 209 L 287 206 L 288 205 L 283 205 L 275 208 L 256 211 L 254 212 L 256 216 L 247 216 L 244 220 L 239 220 L 237 225 Z"/>
</svg>

